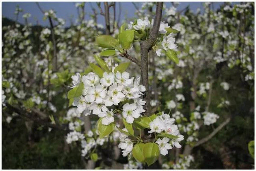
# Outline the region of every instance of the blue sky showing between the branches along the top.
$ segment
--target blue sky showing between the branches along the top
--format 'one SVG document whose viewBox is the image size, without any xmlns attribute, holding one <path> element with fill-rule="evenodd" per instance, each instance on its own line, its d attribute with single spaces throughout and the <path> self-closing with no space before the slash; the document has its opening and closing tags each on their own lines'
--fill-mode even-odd
<svg viewBox="0 0 256 171">
<path fill-rule="evenodd" d="M 116 3 L 116 15 L 119 14 L 119 4 L 120 2 Z M 137 6 L 140 6 L 142 3 L 136 2 Z M 202 9 L 202 3 L 203 2 L 180 2 L 180 5 L 178 6 L 178 10 L 184 9 L 187 5 L 190 6 L 190 9 L 192 11 L 196 11 L 196 9 L 201 8 Z M 41 8 L 43 10 L 49 10 L 53 9 L 58 17 L 63 18 L 66 20 L 66 26 L 70 25 L 70 17 L 73 15 L 73 22 L 78 18 L 77 9 L 75 6 L 75 2 L 39 2 Z M 98 10 L 96 2 L 91 2 L 92 6 L 95 7 L 95 9 Z M 166 6 L 172 6 L 170 2 L 165 2 Z M 214 2 L 214 9 L 217 9 L 222 2 Z M 44 21 L 43 17 L 44 15 L 40 12 L 38 9 L 38 6 L 35 2 L 2 2 L 2 16 L 10 18 L 12 20 L 15 20 L 15 8 L 19 5 L 21 9 L 23 9 L 23 12 L 30 13 L 31 17 L 29 18 L 29 22 L 32 24 L 36 24 L 36 19 L 39 21 L 40 25 L 43 26 L 49 26 L 48 20 Z M 103 5 L 103 4 L 102 4 Z M 134 17 L 135 7 L 131 2 L 121 2 L 121 20 L 125 19 L 125 16 L 128 18 Z M 90 7 L 89 2 L 85 3 L 85 12 L 86 12 L 86 19 L 89 19 L 89 14 L 92 14 L 93 11 Z M 118 16 L 116 17 L 118 18 Z M 18 22 L 24 23 L 24 19 L 22 18 L 22 15 L 19 16 Z M 102 15 L 98 16 L 98 22 L 104 24 L 104 17 Z"/>
</svg>

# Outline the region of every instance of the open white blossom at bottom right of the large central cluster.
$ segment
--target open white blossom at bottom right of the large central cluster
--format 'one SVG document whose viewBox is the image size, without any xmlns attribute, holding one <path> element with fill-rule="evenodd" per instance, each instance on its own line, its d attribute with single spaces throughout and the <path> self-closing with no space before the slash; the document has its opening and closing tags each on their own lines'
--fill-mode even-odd
<svg viewBox="0 0 256 171">
<path fill-rule="evenodd" d="M 122 116 L 126 119 L 127 123 L 132 124 L 134 122 L 134 118 L 140 117 L 140 111 L 137 110 L 136 104 L 126 103 L 123 106 Z"/>
</svg>

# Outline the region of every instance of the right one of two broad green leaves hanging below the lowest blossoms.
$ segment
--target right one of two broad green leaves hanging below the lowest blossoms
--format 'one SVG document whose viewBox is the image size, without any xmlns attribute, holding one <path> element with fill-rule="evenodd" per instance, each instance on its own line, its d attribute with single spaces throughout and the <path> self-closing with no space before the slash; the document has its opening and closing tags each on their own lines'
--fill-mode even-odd
<svg viewBox="0 0 256 171">
<path fill-rule="evenodd" d="M 145 161 L 148 166 L 157 161 L 159 154 L 159 148 L 156 143 L 148 142 L 144 145 L 143 156 L 145 157 Z"/>
</svg>

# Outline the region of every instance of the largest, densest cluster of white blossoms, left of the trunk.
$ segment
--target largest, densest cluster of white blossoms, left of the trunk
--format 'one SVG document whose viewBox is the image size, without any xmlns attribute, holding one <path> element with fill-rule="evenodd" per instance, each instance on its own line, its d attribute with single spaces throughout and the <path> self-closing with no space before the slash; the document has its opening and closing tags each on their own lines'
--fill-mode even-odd
<svg viewBox="0 0 256 171">
<path fill-rule="evenodd" d="M 114 122 L 113 109 L 108 107 L 117 106 L 125 100 L 133 100 L 133 103 L 126 103 L 122 107 L 122 116 L 128 123 L 133 123 L 134 118 L 140 117 L 140 113 L 145 111 L 145 101 L 140 99 L 145 87 L 140 85 L 140 78 L 129 78 L 128 72 L 104 72 L 102 78 L 93 72 L 82 77 L 77 73 L 72 79 L 72 87 L 77 87 L 81 82 L 84 85 L 82 96 L 74 98 L 73 106 L 85 116 L 91 113 L 98 115 L 103 125 Z"/>
</svg>

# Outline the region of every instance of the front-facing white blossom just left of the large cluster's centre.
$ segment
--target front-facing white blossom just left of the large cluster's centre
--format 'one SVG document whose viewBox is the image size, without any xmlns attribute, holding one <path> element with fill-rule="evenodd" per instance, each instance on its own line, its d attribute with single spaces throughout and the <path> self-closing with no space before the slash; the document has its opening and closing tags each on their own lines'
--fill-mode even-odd
<svg viewBox="0 0 256 171">
<path fill-rule="evenodd" d="M 103 98 L 106 96 L 106 91 L 101 85 L 97 85 L 96 87 L 89 87 L 87 93 L 88 95 L 85 96 L 85 99 L 90 103 L 93 101 L 96 103 L 102 103 Z"/>
</svg>

